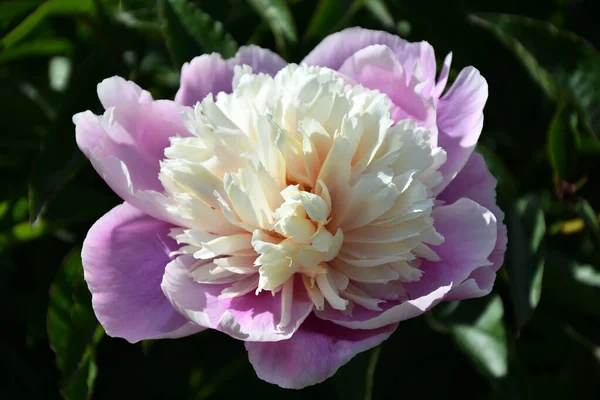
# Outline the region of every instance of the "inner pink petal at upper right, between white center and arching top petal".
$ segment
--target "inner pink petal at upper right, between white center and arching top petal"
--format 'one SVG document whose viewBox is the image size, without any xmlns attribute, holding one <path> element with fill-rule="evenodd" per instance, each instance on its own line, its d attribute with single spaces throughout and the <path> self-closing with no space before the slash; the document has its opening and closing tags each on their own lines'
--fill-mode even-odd
<svg viewBox="0 0 600 400">
<path fill-rule="evenodd" d="M 369 89 L 387 94 L 395 105 L 392 117 L 398 121 L 411 118 L 421 125 L 435 128 L 435 105 L 425 99 L 392 51 L 384 45 L 372 45 L 348 57 L 339 72 Z"/>
</svg>

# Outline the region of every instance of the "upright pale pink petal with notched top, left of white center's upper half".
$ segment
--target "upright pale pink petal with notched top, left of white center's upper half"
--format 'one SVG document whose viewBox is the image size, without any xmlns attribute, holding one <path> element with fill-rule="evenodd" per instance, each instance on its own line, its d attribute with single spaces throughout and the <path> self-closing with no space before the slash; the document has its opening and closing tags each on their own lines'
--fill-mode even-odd
<svg viewBox="0 0 600 400">
<path fill-rule="evenodd" d="M 110 108 L 102 116 L 86 111 L 73 117 L 79 148 L 122 199 L 155 218 L 176 222 L 161 205 L 158 172 L 169 138 L 189 135 L 180 117 L 184 107 L 153 101 L 119 77 L 104 80 L 98 94 Z"/>
</svg>

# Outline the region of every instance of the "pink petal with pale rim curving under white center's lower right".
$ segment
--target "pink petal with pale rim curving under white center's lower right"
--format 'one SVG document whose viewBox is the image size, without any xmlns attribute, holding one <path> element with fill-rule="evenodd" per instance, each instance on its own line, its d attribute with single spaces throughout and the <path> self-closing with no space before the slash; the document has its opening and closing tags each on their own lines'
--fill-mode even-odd
<svg viewBox="0 0 600 400">
<path fill-rule="evenodd" d="M 355 306 L 352 315 L 331 308 L 316 315 L 348 328 L 379 328 L 421 315 L 445 299 L 473 271 L 491 265 L 488 257 L 496 244 L 496 218 L 490 211 L 472 200 L 460 199 L 436 208 L 432 216 L 445 239 L 440 246 L 432 246 L 441 261 L 423 261 L 421 280 L 404 284 L 412 300 L 388 301 L 380 305 L 383 311 Z"/>
</svg>

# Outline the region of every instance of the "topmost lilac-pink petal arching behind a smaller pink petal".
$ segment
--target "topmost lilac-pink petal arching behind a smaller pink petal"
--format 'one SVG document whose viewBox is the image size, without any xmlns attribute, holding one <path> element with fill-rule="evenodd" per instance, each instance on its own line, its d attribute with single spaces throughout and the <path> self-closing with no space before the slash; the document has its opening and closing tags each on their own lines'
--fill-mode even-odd
<svg viewBox="0 0 600 400">
<path fill-rule="evenodd" d="M 436 74 L 433 47 L 427 42 L 410 43 L 388 32 L 358 27 L 345 29 L 323 39 L 302 62 L 338 70 L 358 50 L 376 44 L 392 49 L 409 73 L 412 73 L 418 62 L 419 74 L 426 81 L 423 93 L 431 92 Z"/>
</svg>

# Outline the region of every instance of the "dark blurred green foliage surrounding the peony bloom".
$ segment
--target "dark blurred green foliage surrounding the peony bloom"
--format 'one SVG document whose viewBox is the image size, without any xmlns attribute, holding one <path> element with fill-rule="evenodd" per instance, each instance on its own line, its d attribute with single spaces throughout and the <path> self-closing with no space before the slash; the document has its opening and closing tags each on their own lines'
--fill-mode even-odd
<svg viewBox="0 0 600 400">
<path fill-rule="evenodd" d="M 600 2 L 0 2 L 0 397 L 584 399 L 600 395 Z M 119 199 L 75 145 L 121 75 L 172 98 L 182 63 L 246 44 L 299 62 L 360 25 L 433 44 L 490 97 L 478 146 L 509 251 L 494 293 L 406 321 L 323 384 L 258 380 L 217 332 L 135 345 L 104 335 L 83 280 L 87 229 Z"/>
</svg>

